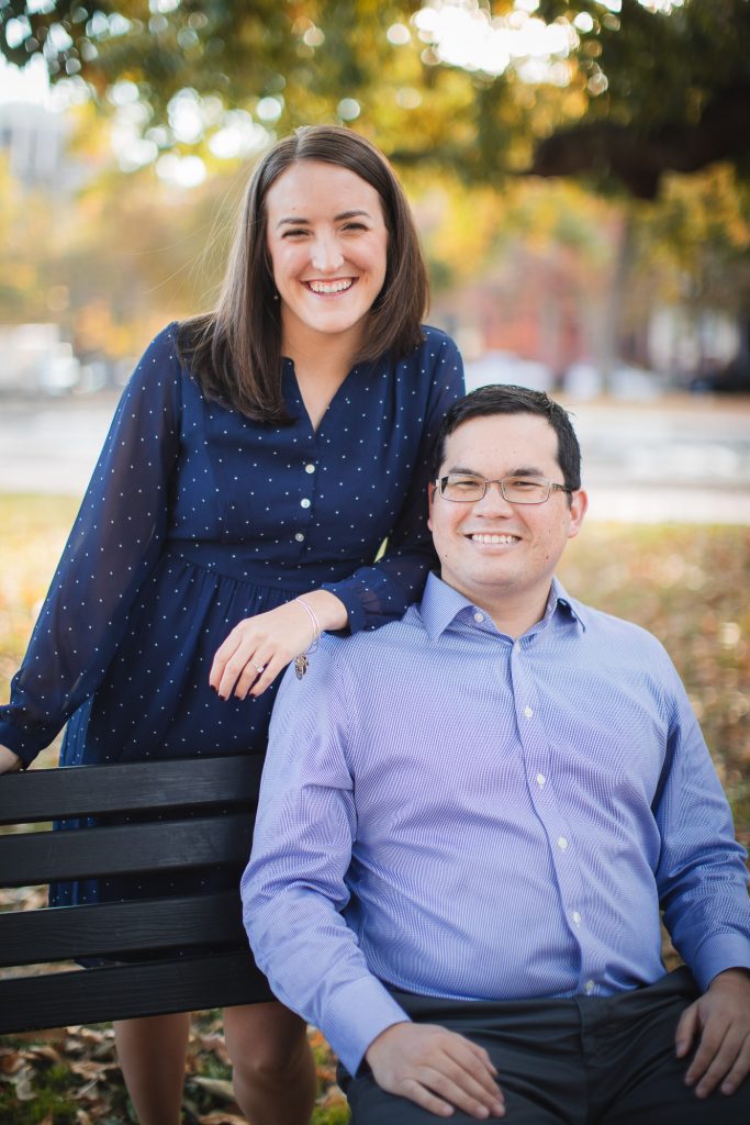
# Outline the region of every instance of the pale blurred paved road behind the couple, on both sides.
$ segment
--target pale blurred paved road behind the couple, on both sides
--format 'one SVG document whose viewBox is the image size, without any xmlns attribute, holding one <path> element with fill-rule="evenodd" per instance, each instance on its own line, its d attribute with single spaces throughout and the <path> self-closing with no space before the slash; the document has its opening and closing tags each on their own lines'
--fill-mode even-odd
<svg viewBox="0 0 750 1125">
<path fill-rule="evenodd" d="M 81 495 L 115 402 L 0 402 L 0 489 Z M 750 399 L 566 405 L 590 518 L 750 525 Z"/>
</svg>

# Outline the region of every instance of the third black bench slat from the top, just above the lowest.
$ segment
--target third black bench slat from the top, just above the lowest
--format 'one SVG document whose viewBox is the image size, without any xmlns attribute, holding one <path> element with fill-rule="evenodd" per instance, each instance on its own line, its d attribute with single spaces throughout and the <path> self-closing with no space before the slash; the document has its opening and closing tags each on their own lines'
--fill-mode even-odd
<svg viewBox="0 0 750 1125">
<path fill-rule="evenodd" d="M 238 891 L 0 914 L 0 965 L 246 944 Z"/>
</svg>

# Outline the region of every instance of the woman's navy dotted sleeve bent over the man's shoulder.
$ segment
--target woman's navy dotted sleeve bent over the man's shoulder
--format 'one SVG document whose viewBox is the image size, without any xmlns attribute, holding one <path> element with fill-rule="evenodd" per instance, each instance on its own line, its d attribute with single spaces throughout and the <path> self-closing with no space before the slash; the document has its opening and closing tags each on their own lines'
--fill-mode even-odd
<svg viewBox="0 0 750 1125">
<path fill-rule="evenodd" d="M 422 440 L 404 506 L 388 536 L 386 554 L 342 582 L 325 583 L 346 606 L 349 631 L 377 629 L 398 620 L 422 595 L 430 570 L 437 566 L 427 528 L 427 484 L 433 446 L 448 410 L 464 393 L 463 361 L 450 336 L 442 335 L 435 354 L 430 402 Z"/>
</svg>

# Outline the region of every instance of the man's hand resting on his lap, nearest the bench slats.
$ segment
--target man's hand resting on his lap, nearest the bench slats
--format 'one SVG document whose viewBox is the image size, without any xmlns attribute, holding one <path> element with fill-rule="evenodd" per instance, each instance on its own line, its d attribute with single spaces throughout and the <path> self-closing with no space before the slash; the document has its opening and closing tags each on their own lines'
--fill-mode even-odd
<svg viewBox="0 0 750 1125">
<path fill-rule="evenodd" d="M 453 1109 L 480 1120 L 503 1117 L 497 1070 L 482 1047 L 434 1024 L 392 1024 L 372 1041 L 365 1059 L 378 1086 L 450 1117 Z"/>
</svg>

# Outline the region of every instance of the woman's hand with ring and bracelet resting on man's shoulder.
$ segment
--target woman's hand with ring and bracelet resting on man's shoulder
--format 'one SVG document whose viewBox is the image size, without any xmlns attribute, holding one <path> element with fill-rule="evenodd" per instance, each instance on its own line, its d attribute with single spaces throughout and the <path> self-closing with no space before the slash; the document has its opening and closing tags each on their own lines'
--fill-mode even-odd
<svg viewBox="0 0 750 1125">
<path fill-rule="evenodd" d="M 346 608 L 335 594 L 316 590 L 302 595 L 315 612 L 320 629 L 343 629 Z M 246 618 L 235 626 L 214 657 L 208 682 L 222 696 L 238 700 L 262 695 L 275 677 L 314 639 L 310 614 L 297 601 L 268 613 Z"/>
</svg>

